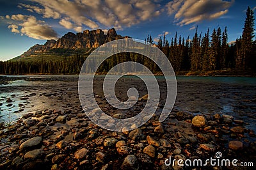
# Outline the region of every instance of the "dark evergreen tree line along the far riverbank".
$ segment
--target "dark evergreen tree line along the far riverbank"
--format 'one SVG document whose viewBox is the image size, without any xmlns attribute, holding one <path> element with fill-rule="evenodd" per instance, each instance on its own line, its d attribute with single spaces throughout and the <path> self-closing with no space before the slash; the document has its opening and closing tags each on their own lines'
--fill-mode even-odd
<svg viewBox="0 0 256 170">
<path fill-rule="evenodd" d="M 255 72 L 256 40 L 254 38 L 254 14 L 248 7 L 244 21 L 243 34 L 236 42 L 228 44 L 227 27 L 220 27 L 210 33 L 198 33 L 190 38 L 175 36 L 167 40 L 166 35 L 159 38 L 156 46 L 163 51 L 172 63 L 175 72 L 212 71 L 232 68 Z M 152 36 L 147 36 L 145 43 L 153 43 Z M 0 74 L 24 73 L 79 73 L 87 56 L 76 54 L 61 61 L 0 61 Z M 112 56 L 100 65 L 97 72 L 108 72 L 113 66 L 124 61 L 135 61 L 147 66 L 152 72 L 159 72 L 156 63 L 145 56 L 133 53 L 121 53 Z"/>
</svg>

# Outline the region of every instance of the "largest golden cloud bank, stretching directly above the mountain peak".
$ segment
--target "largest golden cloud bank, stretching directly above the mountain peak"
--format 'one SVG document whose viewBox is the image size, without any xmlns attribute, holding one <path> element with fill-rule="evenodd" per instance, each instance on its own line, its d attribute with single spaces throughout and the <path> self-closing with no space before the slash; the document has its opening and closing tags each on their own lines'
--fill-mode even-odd
<svg viewBox="0 0 256 170">
<path fill-rule="evenodd" d="M 21 3 L 20 8 L 39 13 L 45 18 L 58 19 L 61 26 L 76 31 L 84 26 L 90 29 L 99 27 L 122 29 L 150 20 L 163 12 L 161 6 L 156 4 L 159 3 L 158 1 L 150 0 L 31 1 L 34 5 Z M 67 22 L 70 22 L 72 27 Z"/>
</svg>

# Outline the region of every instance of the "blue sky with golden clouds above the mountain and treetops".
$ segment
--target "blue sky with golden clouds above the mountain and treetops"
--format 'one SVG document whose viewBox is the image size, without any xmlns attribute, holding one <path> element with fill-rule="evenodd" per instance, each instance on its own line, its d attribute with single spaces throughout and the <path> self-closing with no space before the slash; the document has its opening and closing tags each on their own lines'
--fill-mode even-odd
<svg viewBox="0 0 256 170">
<path fill-rule="evenodd" d="M 255 0 L 0 0 L 0 61 L 20 56 L 30 47 L 58 40 L 67 32 L 115 27 L 122 36 L 157 42 L 165 33 L 193 37 L 218 26 L 228 30 L 228 41 L 243 32 L 248 6 Z M 255 21 L 256 22 L 256 21 Z M 155 42 L 155 43 L 156 43 Z"/>
</svg>

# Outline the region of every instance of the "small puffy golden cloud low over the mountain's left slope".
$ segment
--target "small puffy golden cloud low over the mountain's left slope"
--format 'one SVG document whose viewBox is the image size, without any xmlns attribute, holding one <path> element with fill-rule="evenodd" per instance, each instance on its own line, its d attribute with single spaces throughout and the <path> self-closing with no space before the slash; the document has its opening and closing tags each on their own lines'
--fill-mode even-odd
<svg viewBox="0 0 256 170">
<path fill-rule="evenodd" d="M 38 40 L 57 39 L 57 33 L 42 20 L 36 20 L 31 15 L 6 15 L 6 22 L 9 24 L 8 28 L 13 33 L 20 33 L 30 38 Z"/>
</svg>

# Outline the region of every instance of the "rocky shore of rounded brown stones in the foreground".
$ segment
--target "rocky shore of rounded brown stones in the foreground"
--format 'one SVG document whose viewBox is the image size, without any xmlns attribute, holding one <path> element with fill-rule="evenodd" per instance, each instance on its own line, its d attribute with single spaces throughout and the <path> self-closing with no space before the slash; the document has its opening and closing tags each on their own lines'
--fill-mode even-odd
<svg viewBox="0 0 256 170">
<path fill-rule="evenodd" d="M 86 114 L 45 110 L 24 114 L 0 133 L 0 169 L 191 169 L 166 166 L 176 160 L 236 158 L 255 160 L 256 143 L 246 141 L 255 133 L 246 122 L 232 116 L 193 116 L 174 110 L 159 123 L 154 116 L 129 132 L 111 132 L 90 121 Z M 255 163 L 255 162 L 254 162 Z M 209 166 L 196 169 L 223 169 Z M 241 167 L 227 166 L 226 169 Z"/>
</svg>

